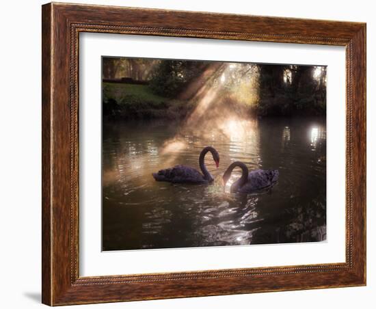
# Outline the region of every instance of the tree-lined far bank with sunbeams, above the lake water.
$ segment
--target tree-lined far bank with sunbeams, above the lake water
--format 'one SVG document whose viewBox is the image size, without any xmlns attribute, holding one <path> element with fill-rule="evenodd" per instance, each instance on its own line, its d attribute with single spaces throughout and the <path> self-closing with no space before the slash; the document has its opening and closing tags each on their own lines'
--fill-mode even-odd
<svg viewBox="0 0 376 309">
<path fill-rule="evenodd" d="M 183 120 L 203 106 L 258 118 L 326 113 L 325 66 L 104 57 L 102 85 L 110 120 Z"/>
</svg>

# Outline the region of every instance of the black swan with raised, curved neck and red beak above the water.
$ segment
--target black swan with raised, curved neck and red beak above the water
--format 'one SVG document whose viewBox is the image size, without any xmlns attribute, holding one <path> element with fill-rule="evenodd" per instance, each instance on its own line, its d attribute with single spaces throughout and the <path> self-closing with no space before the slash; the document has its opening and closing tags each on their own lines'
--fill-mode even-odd
<svg viewBox="0 0 376 309">
<path fill-rule="evenodd" d="M 200 168 L 202 170 L 202 174 L 193 167 L 186 165 L 176 165 L 174 167 L 166 168 L 165 170 L 160 170 L 157 173 L 152 173 L 152 176 L 157 181 L 168 181 L 170 183 L 211 183 L 214 180 L 214 178 L 206 169 L 204 163 L 205 154 L 209 151 L 213 155 L 215 165 L 218 167 L 219 154 L 217 150 L 215 150 L 215 148 L 211 146 L 207 146 L 204 149 L 202 149 L 200 153 L 200 158 L 198 159 L 198 162 L 200 163 Z"/>
</svg>

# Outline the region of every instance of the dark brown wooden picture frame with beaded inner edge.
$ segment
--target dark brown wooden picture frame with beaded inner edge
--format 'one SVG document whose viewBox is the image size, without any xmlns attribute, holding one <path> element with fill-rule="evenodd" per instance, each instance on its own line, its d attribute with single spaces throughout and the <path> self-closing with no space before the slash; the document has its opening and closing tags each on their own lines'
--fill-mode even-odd
<svg viewBox="0 0 376 309">
<path fill-rule="evenodd" d="M 346 46 L 346 262 L 79 276 L 79 33 Z M 42 302 L 51 306 L 366 284 L 366 24 L 49 3 L 42 6 Z"/>
</svg>

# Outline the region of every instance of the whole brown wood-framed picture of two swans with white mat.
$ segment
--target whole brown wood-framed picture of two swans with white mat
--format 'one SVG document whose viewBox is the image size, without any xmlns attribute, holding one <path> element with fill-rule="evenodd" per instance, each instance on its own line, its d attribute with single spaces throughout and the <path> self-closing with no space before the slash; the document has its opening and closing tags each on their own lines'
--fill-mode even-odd
<svg viewBox="0 0 376 309">
<path fill-rule="evenodd" d="M 42 302 L 366 284 L 366 25 L 42 6 Z"/>
</svg>

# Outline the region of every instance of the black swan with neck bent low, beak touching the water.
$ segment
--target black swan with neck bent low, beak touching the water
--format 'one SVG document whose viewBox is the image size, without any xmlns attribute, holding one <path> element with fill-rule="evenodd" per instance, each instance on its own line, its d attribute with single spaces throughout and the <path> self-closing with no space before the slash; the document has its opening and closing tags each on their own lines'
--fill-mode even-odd
<svg viewBox="0 0 376 309">
<path fill-rule="evenodd" d="M 232 170 L 234 170 L 235 167 L 240 167 L 242 174 L 241 178 L 231 185 L 231 193 L 252 193 L 260 189 L 269 189 L 273 187 L 278 180 L 278 170 L 254 170 L 248 173 L 247 166 L 243 162 L 236 161 L 231 163 L 226 172 L 224 172 L 224 185 L 228 182 Z"/>
</svg>

